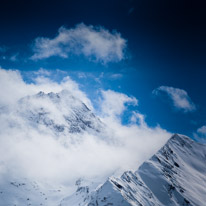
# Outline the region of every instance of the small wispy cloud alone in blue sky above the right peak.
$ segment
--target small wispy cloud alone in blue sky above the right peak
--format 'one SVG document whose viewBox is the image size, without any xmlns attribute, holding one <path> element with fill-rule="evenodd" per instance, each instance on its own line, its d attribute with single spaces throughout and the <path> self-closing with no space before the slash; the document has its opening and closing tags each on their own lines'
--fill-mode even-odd
<svg viewBox="0 0 206 206">
<path fill-rule="evenodd" d="M 169 96 L 175 108 L 184 112 L 196 110 L 195 104 L 191 101 L 185 90 L 168 86 L 160 86 L 153 90 L 153 94 L 155 95 L 161 95 L 162 93 L 166 93 Z"/>
</svg>

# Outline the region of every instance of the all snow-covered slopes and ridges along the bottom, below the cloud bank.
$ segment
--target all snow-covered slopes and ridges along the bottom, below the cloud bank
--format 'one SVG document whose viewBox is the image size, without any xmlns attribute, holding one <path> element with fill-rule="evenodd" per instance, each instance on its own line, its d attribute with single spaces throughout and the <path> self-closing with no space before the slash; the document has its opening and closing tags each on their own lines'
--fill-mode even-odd
<svg viewBox="0 0 206 206">
<path fill-rule="evenodd" d="M 98 187 L 80 179 L 72 195 L 64 186 L 5 179 L 0 185 L 0 206 L 202 206 L 205 157 L 205 145 L 176 134 L 135 172 L 110 177 Z"/>
</svg>

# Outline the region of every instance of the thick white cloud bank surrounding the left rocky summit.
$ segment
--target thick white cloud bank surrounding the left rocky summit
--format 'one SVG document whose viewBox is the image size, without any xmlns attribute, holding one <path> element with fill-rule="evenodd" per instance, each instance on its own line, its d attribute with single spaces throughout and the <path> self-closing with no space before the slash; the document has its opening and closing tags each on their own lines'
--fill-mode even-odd
<svg viewBox="0 0 206 206">
<path fill-rule="evenodd" d="M 71 108 L 78 109 L 80 101 L 96 113 L 92 101 L 69 76 L 58 83 L 42 73 L 48 74 L 40 70 L 34 82 L 27 83 L 19 71 L 0 69 L 0 180 L 10 175 L 69 184 L 80 177 L 106 177 L 137 169 L 171 135 L 159 126 L 149 127 L 137 111 L 131 122 L 123 125 L 120 114 L 138 101 L 112 90 L 100 93 L 98 118 L 104 125 L 100 133 L 57 133 L 45 124 L 29 121 L 29 111 L 41 111 L 40 115 L 64 124 L 63 115 Z M 72 94 L 74 101 L 62 90 Z M 61 93 L 57 97 L 64 104 L 59 107 L 56 100 L 34 98 L 40 91 Z"/>
</svg>

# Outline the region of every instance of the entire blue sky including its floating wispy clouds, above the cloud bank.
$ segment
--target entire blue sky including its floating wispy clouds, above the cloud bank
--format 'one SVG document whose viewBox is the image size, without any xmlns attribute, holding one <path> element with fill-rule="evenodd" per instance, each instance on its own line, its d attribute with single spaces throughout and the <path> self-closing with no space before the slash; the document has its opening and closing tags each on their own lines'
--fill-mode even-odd
<svg viewBox="0 0 206 206">
<path fill-rule="evenodd" d="M 134 96 L 148 125 L 206 138 L 203 2 L 2 0 L 0 66 Z"/>
</svg>

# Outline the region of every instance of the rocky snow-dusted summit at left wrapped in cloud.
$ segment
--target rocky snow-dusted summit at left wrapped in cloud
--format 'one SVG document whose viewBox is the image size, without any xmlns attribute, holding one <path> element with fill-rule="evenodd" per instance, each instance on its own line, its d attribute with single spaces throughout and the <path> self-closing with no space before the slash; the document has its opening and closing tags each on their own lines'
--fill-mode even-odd
<svg viewBox="0 0 206 206">
<path fill-rule="evenodd" d="M 99 132 L 103 128 L 99 118 L 67 90 L 24 97 L 17 109 L 33 126 L 44 125 L 57 133 Z"/>
</svg>

